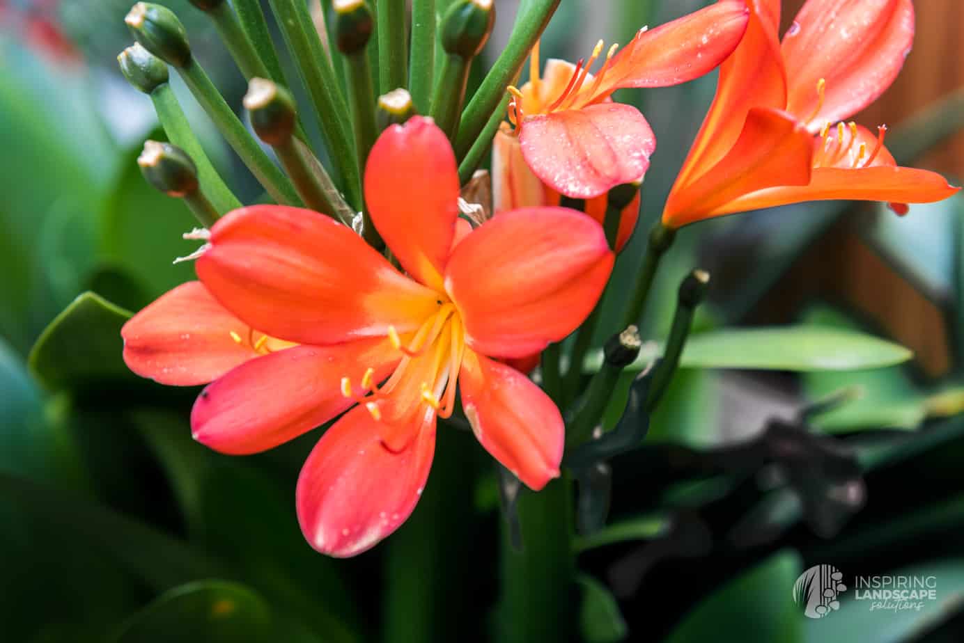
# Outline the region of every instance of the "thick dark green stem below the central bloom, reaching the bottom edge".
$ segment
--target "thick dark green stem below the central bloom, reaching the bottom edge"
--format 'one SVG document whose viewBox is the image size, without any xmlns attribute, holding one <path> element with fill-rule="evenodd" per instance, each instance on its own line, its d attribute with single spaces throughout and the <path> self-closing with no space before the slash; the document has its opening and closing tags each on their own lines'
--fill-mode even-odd
<svg viewBox="0 0 964 643">
<path fill-rule="evenodd" d="M 502 538 L 502 598 L 498 612 L 504 643 L 573 639 L 573 482 L 552 480 L 519 498 L 522 551 Z"/>
</svg>

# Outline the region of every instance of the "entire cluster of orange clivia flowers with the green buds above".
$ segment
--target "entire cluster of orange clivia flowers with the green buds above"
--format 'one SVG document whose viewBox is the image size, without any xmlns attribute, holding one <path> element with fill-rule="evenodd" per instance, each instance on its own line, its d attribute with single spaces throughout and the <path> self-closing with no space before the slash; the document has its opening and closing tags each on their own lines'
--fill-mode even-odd
<svg viewBox="0 0 964 643">
<path fill-rule="evenodd" d="M 361 58 L 371 16 L 363 2 L 335 2 L 354 146 L 329 122 L 332 114 L 321 122 L 335 155 L 347 145 L 347 156 L 334 159 L 346 164 L 344 183 L 316 160 L 305 163 L 310 152 L 292 99 L 255 77 L 245 106 L 290 184 L 256 146 L 245 146 L 230 114 L 226 138 L 279 204 L 219 211 L 205 195 L 215 192 L 216 176 L 205 176 L 213 169 L 198 158 L 200 183 L 165 188 L 208 225 L 193 235 L 205 242 L 196 255 L 199 280 L 127 322 L 124 360 L 163 384 L 206 384 L 191 425 L 214 450 L 268 450 L 333 423 L 308 456 L 296 494 L 304 534 L 322 553 L 361 553 L 406 520 L 429 475 L 438 420 L 453 414 L 531 489 L 559 476 L 567 442 L 560 396 L 550 398 L 512 365 L 591 318 L 615 253 L 636 226 L 656 137 L 635 108 L 613 102 L 615 90 L 672 86 L 720 69 L 710 113 L 667 199 L 664 230 L 829 198 L 886 201 L 903 212 L 903 204 L 955 192 L 933 172 L 897 167 L 886 128 L 874 136 L 844 122 L 896 77 L 913 38 L 910 0 L 810 0 L 783 42 L 779 0 L 720 0 L 641 29 L 621 49 L 601 41 L 588 60 L 550 60 L 545 69 L 536 33 L 526 47 L 529 81 L 497 88 L 510 96 L 508 120 L 490 110 L 494 126 L 483 127 L 460 123 L 460 114 L 478 111 L 475 99 L 461 108 L 469 63 L 492 29 L 492 4 L 464 0 L 446 13 L 446 59 L 431 109 L 417 95 L 414 104 L 404 96 L 399 103 L 393 92 L 376 117 Z M 150 55 L 172 59 L 204 95 L 202 71 L 168 14 L 139 3 L 128 24 Z M 297 47 L 304 29 L 294 36 Z M 248 75 L 270 72 L 258 52 L 246 51 Z M 129 78 L 147 79 L 137 71 L 147 55 L 122 57 Z M 421 68 L 413 61 L 413 74 Z M 162 71 L 142 89 L 166 84 Z M 324 79 L 325 68 L 314 72 Z M 306 73 L 312 98 L 336 105 L 340 96 L 315 87 L 314 72 Z M 424 80 L 413 77 L 410 87 Z M 415 108 L 431 117 L 412 116 Z M 476 133 L 473 150 L 494 145 L 493 217 L 460 214 L 475 209 L 462 198 L 460 176 L 479 161 L 453 150 L 451 141 L 466 132 Z M 153 156 L 143 161 L 146 173 L 167 186 L 174 174 Z M 190 159 L 177 168 L 178 177 L 196 169 Z"/>
</svg>

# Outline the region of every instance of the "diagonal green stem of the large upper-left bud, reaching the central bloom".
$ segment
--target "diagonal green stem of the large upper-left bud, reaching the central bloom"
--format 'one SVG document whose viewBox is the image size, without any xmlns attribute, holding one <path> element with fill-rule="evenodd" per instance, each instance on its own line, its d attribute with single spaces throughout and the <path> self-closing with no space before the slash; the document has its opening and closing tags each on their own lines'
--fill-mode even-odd
<svg viewBox="0 0 964 643">
<path fill-rule="evenodd" d="M 197 61 L 177 69 L 201 107 L 218 126 L 222 136 L 254 174 L 264 189 L 279 203 L 302 205 L 294 186 L 281 169 L 272 163 L 264 150 L 254 141 L 244 124 L 235 116 L 225 99 Z M 190 153 L 190 152 L 189 152 Z"/>
</svg>

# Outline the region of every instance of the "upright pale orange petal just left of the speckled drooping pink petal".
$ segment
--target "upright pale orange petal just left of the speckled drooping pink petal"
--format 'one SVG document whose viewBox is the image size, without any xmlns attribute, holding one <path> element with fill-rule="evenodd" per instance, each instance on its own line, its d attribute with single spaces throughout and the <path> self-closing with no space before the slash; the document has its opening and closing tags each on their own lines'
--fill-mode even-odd
<svg viewBox="0 0 964 643">
<path fill-rule="evenodd" d="M 542 180 L 522 157 L 519 137 L 502 123 L 492 144 L 492 193 L 495 213 L 530 206 L 549 205 Z"/>
</svg>

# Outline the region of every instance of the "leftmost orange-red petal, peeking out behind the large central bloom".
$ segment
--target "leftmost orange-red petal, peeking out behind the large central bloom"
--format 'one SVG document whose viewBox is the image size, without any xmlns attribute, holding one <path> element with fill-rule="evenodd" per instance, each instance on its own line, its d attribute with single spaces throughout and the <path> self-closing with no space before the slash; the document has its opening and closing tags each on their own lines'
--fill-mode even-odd
<svg viewBox="0 0 964 643">
<path fill-rule="evenodd" d="M 249 331 L 200 281 L 189 281 L 123 325 L 123 361 L 134 373 L 161 384 L 206 384 L 257 357 L 247 341 Z M 235 342 L 232 332 L 242 342 Z"/>
</svg>

